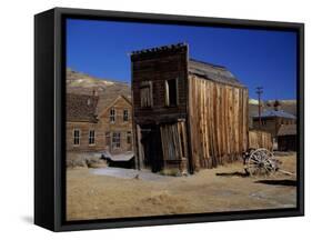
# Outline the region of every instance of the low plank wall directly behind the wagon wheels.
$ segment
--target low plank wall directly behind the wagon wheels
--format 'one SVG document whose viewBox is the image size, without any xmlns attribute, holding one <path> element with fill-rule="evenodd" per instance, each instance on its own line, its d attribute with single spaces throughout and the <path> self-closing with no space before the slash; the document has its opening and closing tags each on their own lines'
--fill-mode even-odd
<svg viewBox="0 0 312 240">
<path fill-rule="evenodd" d="M 273 149 L 272 136 L 270 132 L 260 130 L 249 131 L 249 148 L 265 148 L 268 150 Z"/>
</svg>

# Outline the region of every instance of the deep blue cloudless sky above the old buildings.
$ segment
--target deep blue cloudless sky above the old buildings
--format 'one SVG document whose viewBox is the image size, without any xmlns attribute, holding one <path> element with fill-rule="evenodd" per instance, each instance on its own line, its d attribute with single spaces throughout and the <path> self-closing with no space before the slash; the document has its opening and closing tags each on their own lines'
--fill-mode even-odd
<svg viewBox="0 0 312 240">
<path fill-rule="evenodd" d="M 291 31 L 67 20 L 67 66 L 94 77 L 131 81 L 133 50 L 188 42 L 190 57 L 227 67 L 255 98 L 296 98 L 296 34 Z"/>
</svg>

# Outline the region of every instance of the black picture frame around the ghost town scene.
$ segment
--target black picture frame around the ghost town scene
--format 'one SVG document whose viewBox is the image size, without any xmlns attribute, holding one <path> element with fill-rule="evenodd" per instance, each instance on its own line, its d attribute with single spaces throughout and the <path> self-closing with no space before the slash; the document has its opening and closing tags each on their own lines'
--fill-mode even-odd
<svg viewBox="0 0 312 240">
<path fill-rule="evenodd" d="M 64 161 L 64 20 L 67 18 L 292 30 L 298 34 L 298 188 L 296 208 L 194 213 L 165 217 L 66 221 Z M 52 231 L 178 224 L 304 214 L 304 24 L 185 17 L 121 11 L 54 8 L 34 17 L 34 223 Z"/>
</svg>

